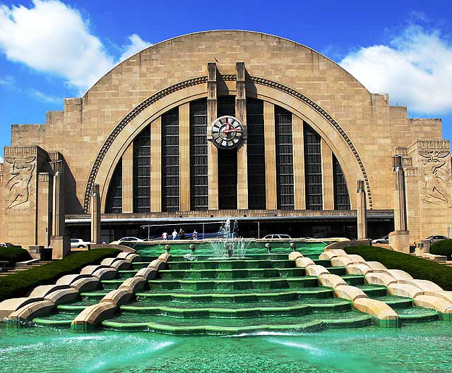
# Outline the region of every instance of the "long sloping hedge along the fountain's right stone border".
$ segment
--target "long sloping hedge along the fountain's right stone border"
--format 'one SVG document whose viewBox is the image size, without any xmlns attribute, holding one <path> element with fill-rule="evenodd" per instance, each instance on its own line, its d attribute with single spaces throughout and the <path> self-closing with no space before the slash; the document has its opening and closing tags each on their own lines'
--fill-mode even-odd
<svg viewBox="0 0 452 373">
<path fill-rule="evenodd" d="M 408 272 L 413 279 L 433 281 L 444 290 L 452 291 L 452 268 L 444 264 L 382 247 L 357 246 L 345 247 L 344 250 L 347 254 L 361 255 L 365 260 L 380 262 L 388 269 L 401 269 Z"/>
</svg>

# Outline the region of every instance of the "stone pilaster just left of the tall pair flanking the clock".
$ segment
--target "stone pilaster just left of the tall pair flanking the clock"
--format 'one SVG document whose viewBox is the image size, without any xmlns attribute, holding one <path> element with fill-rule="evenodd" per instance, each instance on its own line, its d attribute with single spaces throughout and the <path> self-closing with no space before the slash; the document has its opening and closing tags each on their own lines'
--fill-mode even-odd
<svg viewBox="0 0 452 373">
<path fill-rule="evenodd" d="M 180 210 L 190 209 L 190 103 L 179 106 Z"/>
</svg>

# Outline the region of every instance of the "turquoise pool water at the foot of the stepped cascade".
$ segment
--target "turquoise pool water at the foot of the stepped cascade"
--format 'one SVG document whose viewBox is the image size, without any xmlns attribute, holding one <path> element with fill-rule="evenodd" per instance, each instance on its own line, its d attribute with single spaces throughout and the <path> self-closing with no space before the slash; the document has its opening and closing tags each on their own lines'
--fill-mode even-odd
<svg viewBox="0 0 452 373">
<path fill-rule="evenodd" d="M 451 336 L 447 322 L 237 337 L 0 326 L 0 372 L 446 373 Z"/>
</svg>

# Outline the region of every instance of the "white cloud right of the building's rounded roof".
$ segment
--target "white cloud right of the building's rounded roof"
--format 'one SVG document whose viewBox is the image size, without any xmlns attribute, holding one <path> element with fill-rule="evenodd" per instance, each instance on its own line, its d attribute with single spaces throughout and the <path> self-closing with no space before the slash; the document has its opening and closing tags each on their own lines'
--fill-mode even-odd
<svg viewBox="0 0 452 373">
<path fill-rule="evenodd" d="M 406 27 L 389 45 L 362 47 L 340 61 L 371 92 L 422 114 L 452 112 L 452 44 L 439 30 Z"/>
</svg>

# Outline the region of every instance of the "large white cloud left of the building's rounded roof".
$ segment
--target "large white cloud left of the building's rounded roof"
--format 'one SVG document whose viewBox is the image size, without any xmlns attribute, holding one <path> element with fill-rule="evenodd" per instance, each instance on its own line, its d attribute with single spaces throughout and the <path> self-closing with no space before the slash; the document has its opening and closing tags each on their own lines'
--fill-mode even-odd
<svg viewBox="0 0 452 373">
<path fill-rule="evenodd" d="M 138 35 L 129 41 L 124 54 L 149 44 Z M 0 49 L 10 61 L 64 78 L 79 93 L 118 61 L 90 33 L 81 13 L 59 0 L 33 0 L 30 8 L 1 5 Z"/>
</svg>

